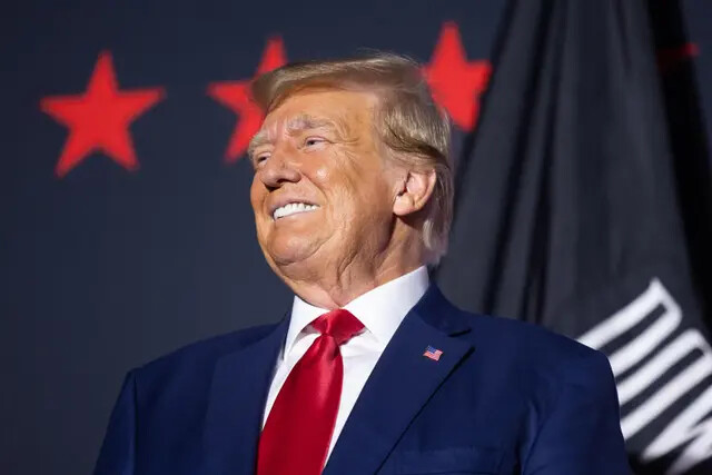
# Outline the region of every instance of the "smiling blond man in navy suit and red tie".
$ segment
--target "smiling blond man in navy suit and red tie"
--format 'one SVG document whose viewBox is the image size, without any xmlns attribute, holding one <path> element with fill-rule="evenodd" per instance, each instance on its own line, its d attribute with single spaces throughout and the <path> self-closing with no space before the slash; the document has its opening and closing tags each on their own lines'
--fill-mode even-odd
<svg viewBox="0 0 712 475">
<path fill-rule="evenodd" d="M 130 372 L 96 473 L 627 473 L 604 356 L 428 283 L 453 187 L 419 67 L 290 65 L 253 96 L 257 239 L 291 311 Z"/>
</svg>

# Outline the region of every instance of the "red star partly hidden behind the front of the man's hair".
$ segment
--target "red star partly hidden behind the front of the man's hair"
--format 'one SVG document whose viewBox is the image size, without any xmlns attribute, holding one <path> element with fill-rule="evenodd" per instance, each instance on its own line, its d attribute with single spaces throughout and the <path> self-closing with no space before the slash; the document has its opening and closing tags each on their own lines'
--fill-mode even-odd
<svg viewBox="0 0 712 475">
<path fill-rule="evenodd" d="M 256 77 L 279 68 L 286 62 L 287 59 L 281 38 L 270 38 L 267 41 L 267 47 L 257 67 Z M 235 130 L 233 131 L 225 152 L 225 160 L 227 162 L 237 161 L 237 159 L 245 154 L 250 139 L 257 133 L 259 125 L 263 121 L 261 110 L 250 99 L 250 82 L 251 79 L 247 79 L 241 81 L 214 82 L 208 86 L 208 95 L 221 105 L 233 109 L 238 116 Z"/>
</svg>

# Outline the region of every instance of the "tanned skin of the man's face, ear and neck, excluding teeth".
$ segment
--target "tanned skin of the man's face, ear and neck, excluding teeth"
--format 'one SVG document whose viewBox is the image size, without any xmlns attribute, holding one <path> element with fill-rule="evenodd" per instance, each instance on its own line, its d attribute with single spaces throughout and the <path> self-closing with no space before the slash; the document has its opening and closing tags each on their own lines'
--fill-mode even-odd
<svg viewBox="0 0 712 475">
<path fill-rule="evenodd" d="M 422 209 L 434 171 L 387 158 L 377 97 L 306 90 L 267 115 L 250 145 L 257 239 L 274 271 L 306 301 L 338 308 L 423 265 Z M 274 219 L 287 202 L 316 209 Z"/>
</svg>

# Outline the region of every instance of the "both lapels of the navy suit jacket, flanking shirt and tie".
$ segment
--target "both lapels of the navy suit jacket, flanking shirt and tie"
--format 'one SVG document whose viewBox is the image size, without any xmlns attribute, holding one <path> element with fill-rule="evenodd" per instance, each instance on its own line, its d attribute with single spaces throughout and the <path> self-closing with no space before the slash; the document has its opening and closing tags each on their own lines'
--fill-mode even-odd
<svg viewBox="0 0 712 475">
<path fill-rule="evenodd" d="M 469 331 L 431 285 L 406 315 L 366 382 L 334 447 L 325 474 L 375 473 L 411 420 L 469 353 L 455 338 Z M 202 437 L 202 473 L 254 474 L 265 400 L 288 318 L 266 337 L 220 358 L 215 367 Z M 439 360 L 423 353 L 443 352 Z"/>
</svg>

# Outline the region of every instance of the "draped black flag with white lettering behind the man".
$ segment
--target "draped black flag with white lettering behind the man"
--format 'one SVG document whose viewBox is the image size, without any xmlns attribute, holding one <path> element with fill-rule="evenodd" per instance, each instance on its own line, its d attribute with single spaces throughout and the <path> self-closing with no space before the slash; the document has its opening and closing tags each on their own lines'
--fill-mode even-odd
<svg viewBox="0 0 712 475">
<path fill-rule="evenodd" d="M 650 30 L 642 0 L 512 1 L 437 280 L 604 352 L 636 473 L 712 474 L 712 350 Z"/>
</svg>

